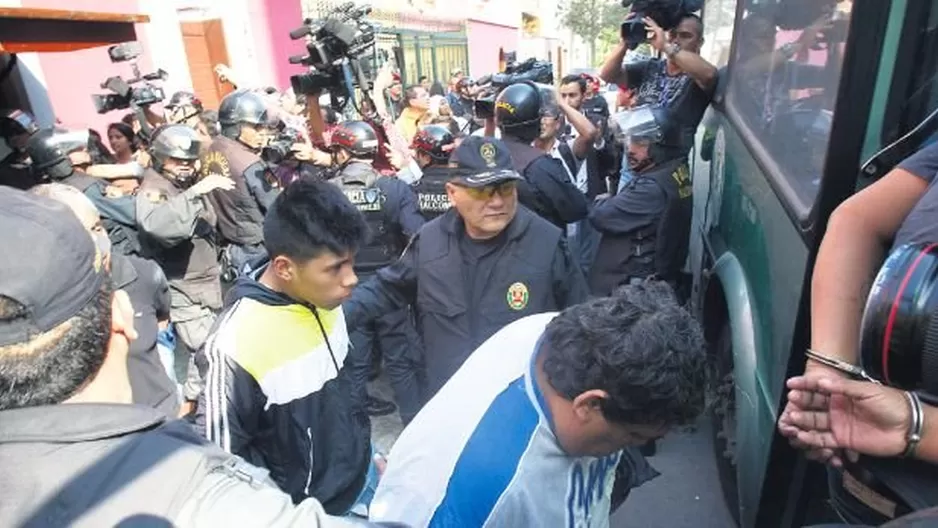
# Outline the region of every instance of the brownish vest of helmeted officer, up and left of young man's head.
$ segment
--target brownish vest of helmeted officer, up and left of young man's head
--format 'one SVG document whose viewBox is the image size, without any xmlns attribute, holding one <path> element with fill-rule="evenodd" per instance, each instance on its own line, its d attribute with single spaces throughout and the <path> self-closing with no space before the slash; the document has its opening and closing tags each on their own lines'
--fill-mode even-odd
<svg viewBox="0 0 938 528">
<path fill-rule="evenodd" d="M 255 163 L 262 163 L 256 154 L 225 136 L 217 136 L 202 156 L 203 176 L 215 173 L 235 182 L 235 188 L 230 191 L 216 190 L 208 194 L 218 215 L 218 233 L 223 242 L 237 246 L 264 242 L 264 215 L 244 179 L 245 171 Z"/>
</svg>

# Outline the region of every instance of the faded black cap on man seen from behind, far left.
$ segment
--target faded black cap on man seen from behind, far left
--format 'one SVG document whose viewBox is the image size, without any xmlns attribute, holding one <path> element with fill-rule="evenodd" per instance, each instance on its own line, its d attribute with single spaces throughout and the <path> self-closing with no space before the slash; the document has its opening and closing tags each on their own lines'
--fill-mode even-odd
<svg viewBox="0 0 938 528">
<path fill-rule="evenodd" d="M 0 322 L 0 346 L 25 343 L 71 319 L 101 289 L 103 255 L 69 207 L 0 187 L 0 296 L 27 317 Z"/>
</svg>

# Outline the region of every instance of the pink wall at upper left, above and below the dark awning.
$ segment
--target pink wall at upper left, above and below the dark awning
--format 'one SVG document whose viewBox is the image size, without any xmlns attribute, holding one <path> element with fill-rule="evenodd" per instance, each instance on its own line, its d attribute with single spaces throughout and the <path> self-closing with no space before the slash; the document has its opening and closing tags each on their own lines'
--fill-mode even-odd
<svg viewBox="0 0 938 528">
<path fill-rule="evenodd" d="M 45 9 L 72 9 L 81 11 L 141 13 L 137 0 L 23 0 L 23 7 Z M 143 37 L 137 25 L 137 36 Z M 153 70 L 153 63 L 144 44 L 140 57 L 142 73 Z M 107 48 L 92 48 L 62 53 L 40 53 L 39 63 L 46 81 L 49 101 L 56 117 L 67 127 L 97 129 L 105 134 L 107 124 L 120 121 L 126 111 L 115 111 L 99 115 L 94 110 L 91 94 L 106 93 L 101 83 L 107 77 L 121 75 L 125 79 L 133 76 L 128 63 L 112 64 Z"/>
</svg>

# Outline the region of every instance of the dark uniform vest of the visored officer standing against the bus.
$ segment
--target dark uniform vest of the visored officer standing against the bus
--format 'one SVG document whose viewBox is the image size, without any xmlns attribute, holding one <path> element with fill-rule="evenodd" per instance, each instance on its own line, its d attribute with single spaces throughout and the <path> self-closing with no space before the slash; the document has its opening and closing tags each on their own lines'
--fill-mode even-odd
<svg viewBox="0 0 938 528">
<path fill-rule="evenodd" d="M 676 279 L 687 260 L 693 214 L 693 184 L 683 159 L 668 162 L 652 172 L 638 175 L 622 192 L 629 192 L 638 178 L 651 178 L 667 196 L 658 221 L 622 236 L 603 234 L 590 274 L 590 290 L 608 295 L 632 279 L 652 275 Z M 619 239 L 618 243 L 608 239 Z"/>
</svg>

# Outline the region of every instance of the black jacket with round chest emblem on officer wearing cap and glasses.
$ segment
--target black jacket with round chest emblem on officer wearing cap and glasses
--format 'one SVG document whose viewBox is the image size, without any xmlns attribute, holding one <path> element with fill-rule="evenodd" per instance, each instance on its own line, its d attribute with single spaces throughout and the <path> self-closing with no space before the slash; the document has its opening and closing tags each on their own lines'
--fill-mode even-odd
<svg viewBox="0 0 938 528">
<path fill-rule="evenodd" d="M 401 259 L 344 305 L 349 328 L 412 304 L 435 392 L 479 345 L 522 317 L 562 310 L 589 292 L 556 227 L 524 207 L 490 247 L 467 254 L 455 210 L 429 222 Z"/>
</svg>

